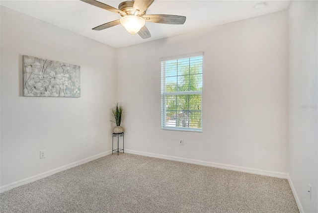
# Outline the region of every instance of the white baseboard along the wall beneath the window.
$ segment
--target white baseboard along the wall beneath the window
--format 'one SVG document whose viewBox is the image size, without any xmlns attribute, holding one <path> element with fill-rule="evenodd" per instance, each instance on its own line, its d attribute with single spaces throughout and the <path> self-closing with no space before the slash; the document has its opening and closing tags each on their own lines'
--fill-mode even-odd
<svg viewBox="0 0 318 213">
<path fill-rule="evenodd" d="M 183 158 L 183 157 L 174 157 L 174 156 L 168 156 L 163 154 L 155 154 L 155 153 L 149 153 L 149 152 L 143 152 L 143 151 L 135 151 L 130 149 L 125 149 L 126 153 L 131 154 L 138 154 L 143 156 L 149 156 L 149 157 L 156 157 L 166 160 L 174 160 L 174 161 L 180 161 L 185 163 L 192 163 L 202 166 L 210 166 L 210 167 L 216 167 L 220 169 L 227 169 L 227 170 L 233 170 L 233 171 L 239 171 L 239 172 L 246 172 L 251 174 L 257 174 L 257 175 L 264 175 L 269 177 L 276 177 L 276 178 L 282 178 L 287 179 L 288 174 L 284 172 L 275 172 L 275 171 L 267 171 L 267 170 L 261 170 L 261 169 L 253 169 L 253 168 L 247 168 L 242 166 L 233 166 L 223 163 L 214 163 L 209 161 L 203 161 L 203 160 L 195 160 L 195 159 L 189 159 L 189 158 Z"/>
</svg>

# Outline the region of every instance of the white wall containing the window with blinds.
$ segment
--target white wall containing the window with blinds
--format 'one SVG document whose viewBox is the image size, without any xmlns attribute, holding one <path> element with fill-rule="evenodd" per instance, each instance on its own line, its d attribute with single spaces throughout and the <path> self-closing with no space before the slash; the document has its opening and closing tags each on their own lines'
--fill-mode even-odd
<svg viewBox="0 0 318 213">
<path fill-rule="evenodd" d="M 161 130 L 159 58 L 200 51 L 203 133 Z M 118 49 L 125 147 L 287 172 L 287 55 L 286 11 Z"/>
</svg>

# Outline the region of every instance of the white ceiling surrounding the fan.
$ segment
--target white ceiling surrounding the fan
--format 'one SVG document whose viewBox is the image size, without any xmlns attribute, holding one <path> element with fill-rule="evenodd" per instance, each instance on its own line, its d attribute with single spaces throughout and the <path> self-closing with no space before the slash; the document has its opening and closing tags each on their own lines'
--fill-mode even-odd
<svg viewBox="0 0 318 213">
<path fill-rule="evenodd" d="M 122 0 L 100 1 L 118 8 Z M 261 10 L 254 9 L 259 2 L 265 2 L 266 7 Z M 290 0 L 155 0 L 148 8 L 147 14 L 183 15 L 187 19 L 183 25 L 146 22 L 152 35 L 148 39 L 142 39 L 137 34 L 132 36 L 121 25 L 101 31 L 92 30 L 93 27 L 117 20 L 121 16 L 80 0 L 0 0 L 0 4 L 120 48 L 285 10 Z"/>
</svg>

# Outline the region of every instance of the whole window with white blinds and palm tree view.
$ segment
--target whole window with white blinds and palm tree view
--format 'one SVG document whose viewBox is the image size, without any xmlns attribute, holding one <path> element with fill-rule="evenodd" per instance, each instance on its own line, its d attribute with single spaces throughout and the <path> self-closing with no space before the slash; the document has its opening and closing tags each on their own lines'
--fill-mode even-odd
<svg viewBox="0 0 318 213">
<path fill-rule="evenodd" d="M 161 59 L 161 129 L 202 132 L 203 53 Z"/>
</svg>

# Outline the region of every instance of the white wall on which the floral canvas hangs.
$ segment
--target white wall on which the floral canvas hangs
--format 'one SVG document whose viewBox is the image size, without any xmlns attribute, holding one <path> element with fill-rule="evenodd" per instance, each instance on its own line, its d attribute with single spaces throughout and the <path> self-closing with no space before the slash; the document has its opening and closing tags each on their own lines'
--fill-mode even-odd
<svg viewBox="0 0 318 213">
<path fill-rule="evenodd" d="M 111 150 L 117 50 L 3 6 L 0 24 L 0 185 Z M 81 97 L 23 97 L 22 55 L 79 65 Z"/>
</svg>

